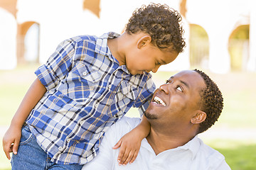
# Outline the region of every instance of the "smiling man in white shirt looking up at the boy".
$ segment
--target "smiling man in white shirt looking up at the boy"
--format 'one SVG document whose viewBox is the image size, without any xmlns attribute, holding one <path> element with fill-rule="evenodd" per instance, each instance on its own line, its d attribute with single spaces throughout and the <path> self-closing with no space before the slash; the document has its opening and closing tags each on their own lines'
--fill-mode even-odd
<svg viewBox="0 0 256 170">
<path fill-rule="evenodd" d="M 137 159 L 119 166 L 119 152 L 112 149 L 140 122 L 124 118 L 106 132 L 100 154 L 83 169 L 230 169 L 222 154 L 197 137 L 218 120 L 222 109 L 222 94 L 205 73 L 197 69 L 179 72 L 154 92 L 144 113 L 151 131 L 142 140 Z"/>
</svg>

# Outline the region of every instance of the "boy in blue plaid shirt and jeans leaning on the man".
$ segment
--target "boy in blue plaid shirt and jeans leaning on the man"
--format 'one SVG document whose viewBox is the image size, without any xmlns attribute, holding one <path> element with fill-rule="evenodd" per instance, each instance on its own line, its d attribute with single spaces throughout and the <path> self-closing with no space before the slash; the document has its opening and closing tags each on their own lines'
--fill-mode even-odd
<svg viewBox="0 0 256 170">
<path fill-rule="evenodd" d="M 134 11 L 122 35 L 61 42 L 36 70 L 38 79 L 4 135 L 6 157 L 14 152 L 12 169 L 81 169 L 96 157 L 110 125 L 132 106 L 141 113 L 147 108 L 155 89 L 149 72 L 183 51 L 180 22 L 177 11 L 149 4 Z M 148 133 L 149 123 L 143 119 L 122 137 L 114 147 L 121 146 L 120 164 L 134 161 Z"/>
</svg>

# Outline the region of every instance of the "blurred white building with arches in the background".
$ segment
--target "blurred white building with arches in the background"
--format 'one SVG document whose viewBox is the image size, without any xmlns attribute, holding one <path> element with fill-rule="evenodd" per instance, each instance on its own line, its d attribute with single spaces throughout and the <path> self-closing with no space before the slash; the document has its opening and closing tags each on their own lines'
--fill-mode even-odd
<svg viewBox="0 0 256 170">
<path fill-rule="evenodd" d="M 76 35 L 122 33 L 135 8 L 151 1 L 0 0 L 0 69 L 45 63 L 58 43 Z M 156 0 L 183 16 L 186 50 L 161 70 L 256 72 L 254 0 Z"/>
</svg>

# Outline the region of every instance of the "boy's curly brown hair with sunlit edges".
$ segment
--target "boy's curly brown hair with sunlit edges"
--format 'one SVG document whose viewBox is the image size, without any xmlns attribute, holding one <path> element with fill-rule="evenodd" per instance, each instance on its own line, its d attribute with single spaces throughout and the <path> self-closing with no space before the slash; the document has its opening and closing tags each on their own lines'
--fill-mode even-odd
<svg viewBox="0 0 256 170">
<path fill-rule="evenodd" d="M 183 52 L 186 42 L 183 39 L 182 18 L 178 11 L 166 4 L 151 3 L 137 8 L 129 18 L 125 32 L 129 35 L 140 31 L 151 36 L 151 42 L 161 50 Z"/>
</svg>

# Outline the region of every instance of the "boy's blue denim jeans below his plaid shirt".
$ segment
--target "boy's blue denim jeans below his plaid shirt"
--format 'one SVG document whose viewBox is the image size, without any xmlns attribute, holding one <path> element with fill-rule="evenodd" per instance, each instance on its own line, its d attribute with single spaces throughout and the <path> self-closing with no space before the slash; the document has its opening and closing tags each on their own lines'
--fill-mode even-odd
<svg viewBox="0 0 256 170">
<path fill-rule="evenodd" d="M 12 170 L 60 170 L 60 169 L 82 169 L 82 165 L 55 164 L 50 162 L 48 154 L 38 145 L 36 138 L 32 135 L 28 125 L 24 125 L 21 130 L 21 141 L 18 146 L 18 154 L 13 154 L 11 158 Z"/>
</svg>

